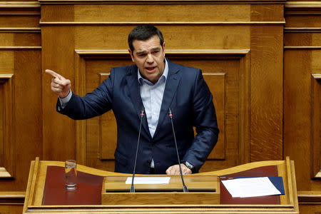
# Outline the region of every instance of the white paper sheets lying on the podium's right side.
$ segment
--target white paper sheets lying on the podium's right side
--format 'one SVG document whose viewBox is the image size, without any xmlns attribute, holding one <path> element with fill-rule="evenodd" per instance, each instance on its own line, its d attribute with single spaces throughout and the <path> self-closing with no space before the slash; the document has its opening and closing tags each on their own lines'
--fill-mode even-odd
<svg viewBox="0 0 321 214">
<path fill-rule="evenodd" d="M 267 177 L 237 178 L 232 180 L 222 180 L 222 183 L 233 198 L 281 194 Z"/>
</svg>

